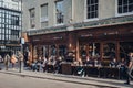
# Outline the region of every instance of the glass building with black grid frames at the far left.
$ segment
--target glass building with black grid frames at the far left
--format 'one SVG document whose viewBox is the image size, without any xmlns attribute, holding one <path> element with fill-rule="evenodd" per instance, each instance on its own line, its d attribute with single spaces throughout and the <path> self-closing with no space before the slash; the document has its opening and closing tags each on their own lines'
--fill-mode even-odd
<svg viewBox="0 0 133 88">
<path fill-rule="evenodd" d="M 0 54 L 20 51 L 21 2 L 0 0 Z"/>
</svg>

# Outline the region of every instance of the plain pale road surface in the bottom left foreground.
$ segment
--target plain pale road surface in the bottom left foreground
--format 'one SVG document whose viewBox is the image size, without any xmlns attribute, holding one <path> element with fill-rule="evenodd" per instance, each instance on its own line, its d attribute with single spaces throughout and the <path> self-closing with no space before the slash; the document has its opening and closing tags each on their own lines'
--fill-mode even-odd
<svg viewBox="0 0 133 88">
<path fill-rule="evenodd" d="M 57 81 L 50 79 L 22 77 L 0 73 L 0 88 L 100 88 L 100 87 L 66 81 Z"/>
</svg>

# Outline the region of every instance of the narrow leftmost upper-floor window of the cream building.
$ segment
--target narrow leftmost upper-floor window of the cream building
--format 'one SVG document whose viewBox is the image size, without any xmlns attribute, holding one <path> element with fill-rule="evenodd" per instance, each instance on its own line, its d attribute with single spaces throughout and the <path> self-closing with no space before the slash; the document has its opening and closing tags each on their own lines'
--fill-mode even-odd
<svg viewBox="0 0 133 88">
<path fill-rule="evenodd" d="M 30 26 L 35 28 L 35 9 L 30 9 Z"/>
</svg>

